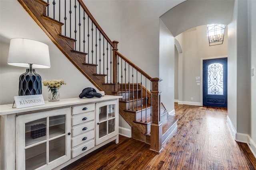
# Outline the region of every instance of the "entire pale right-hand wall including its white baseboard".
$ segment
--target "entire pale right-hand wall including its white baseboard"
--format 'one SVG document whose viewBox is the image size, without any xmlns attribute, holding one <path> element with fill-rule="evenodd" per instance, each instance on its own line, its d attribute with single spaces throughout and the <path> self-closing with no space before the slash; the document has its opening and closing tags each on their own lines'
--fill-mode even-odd
<svg viewBox="0 0 256 170">
<path fill-rule="evenodd" d="M 255 67 L 256 3 L 235 0 L 228 34 L 228 122 L 236 141 L 248 143 L 256 156 Z M 245 18 L 248 17 L 248 20 Z"/>
</svg>

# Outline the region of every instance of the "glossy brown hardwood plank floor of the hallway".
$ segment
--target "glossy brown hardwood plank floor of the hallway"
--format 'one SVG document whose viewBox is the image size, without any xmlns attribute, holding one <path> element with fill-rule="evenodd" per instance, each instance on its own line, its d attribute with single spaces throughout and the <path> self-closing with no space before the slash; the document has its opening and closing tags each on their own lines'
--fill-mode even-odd
<svg viewBox="0 0 256 170">
<path fill-rule="evenodd" d="M 227 110 L 175 104 L 178 129 L 160 154 L 120 136 L 63 170 L 256 170 L 247 144 L 234 141 Z"/>
</svg>

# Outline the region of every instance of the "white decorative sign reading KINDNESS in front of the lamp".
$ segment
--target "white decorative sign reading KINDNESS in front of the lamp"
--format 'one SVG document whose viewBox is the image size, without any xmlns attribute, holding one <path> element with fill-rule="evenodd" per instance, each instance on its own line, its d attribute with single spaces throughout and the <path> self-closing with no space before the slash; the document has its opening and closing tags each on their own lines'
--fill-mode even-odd
<svg viewBox="0 0 256 170">
<path fill-rule="evenodd" d="M 44 105 L 44 98 L 42 94 L 14 96 L 14 101 L 16 103 L 17 108 Z"/>
</svg>

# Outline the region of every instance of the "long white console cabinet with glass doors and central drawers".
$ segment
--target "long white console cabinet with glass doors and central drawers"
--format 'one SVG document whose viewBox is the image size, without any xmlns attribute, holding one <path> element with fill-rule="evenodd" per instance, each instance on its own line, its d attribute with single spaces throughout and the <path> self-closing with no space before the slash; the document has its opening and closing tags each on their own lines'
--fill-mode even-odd
<svg viewBox="0 0 256 170">
<path fill-rule="evenodd" d="M 119 98 L 72 98 L 20 109 L 1 105 L 0 169 L 61 169 L 118 143 Z"/>
</svg>

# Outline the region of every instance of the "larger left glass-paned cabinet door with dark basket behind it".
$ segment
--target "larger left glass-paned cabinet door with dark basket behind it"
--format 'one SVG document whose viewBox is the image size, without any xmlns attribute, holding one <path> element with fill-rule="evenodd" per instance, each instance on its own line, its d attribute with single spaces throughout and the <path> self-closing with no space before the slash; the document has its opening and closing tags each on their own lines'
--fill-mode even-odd
<svg viewBox="0 0 256 170">
<path fill-rule="evenodd" d="M 67 161 L 68 132 L 70 127 L 70 108 L 38 112 L 17 117 L 17 167 L 34 170 L 51 169 L 58 166 L 54 160 Z M 22 131 L 24 129 L 24 131 Z M 69 147 L 70 148 L 70 147 Z M 22 158 L 23 157 L 23 158 Z M 67 158 L 69 157 L 69 158 Z M 22 162 L 23 160 L 23 162 Z M 61 164 L 61 163 L 60 163 Z"/>
</svg>

